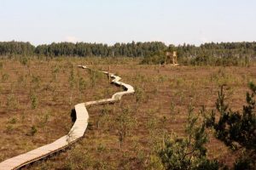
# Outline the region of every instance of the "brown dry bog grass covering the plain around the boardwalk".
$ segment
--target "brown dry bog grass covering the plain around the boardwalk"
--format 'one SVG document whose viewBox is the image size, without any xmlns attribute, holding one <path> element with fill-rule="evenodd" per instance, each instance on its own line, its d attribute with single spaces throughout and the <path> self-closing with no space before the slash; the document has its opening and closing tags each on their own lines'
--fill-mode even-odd
<svg viewBox="0 0 256 170">
<path fill-rule="evenodd" d="M 92 59 L 91 59 L 92 60 Z M 120 89 L 108 84 L 108 78 L 97 77 L 96 86 L 91 87 L 90 74 L 74 67 L 76 80 L 83 77 L 86 88 L 79 95 L 79 82 L 73 88 L 73 103 L 70 104 L 68 77 L 71 65 L 91 64 L 90 59 L 33 59 L 29 67 L 17 60 L 3 59 L 0 70 L 0 161 L 27 150 L 58 139 L 72 126 L 70 111 L 74 104 L 94 99 L 104 99 Z M 102 59 L 102 64 L 104 64 Z M 108 63 L 106 61 L 106 63 Z M 127 64 L 121 60 L 118 64 Z M 125 96 L 115 105 L 96 106 L 88 109 L 90 127 L 84 139 L 74 144 L 71 150 L 34 163 L 31 169 L 145 169 L 156 168 L 154 157 L 158 144 L 166 133 L 184 135 L 184 125 L 189 103 L 195 106 L 195 113 L 206 105 L 213 109 L 217 99 L 218 85 L 226 83 L 230 89 L 228 97 L 234 110 L 241 110 L 245 103 L 247 82 L 256 82 L 256 67 L 192 67 L 156 65 L 111 65 L 111 71 L 122 77 L 122 82 L 131 84 L 137 93 Z M 53 70 L 58 65 L 57 81 L 51 82 Z M 91 65 L 108 69 L 108 65 Z M 9 76 L 3 76 L 7 74 Z M 32 81 L 32 75 L 39 77 Z M 8 77 L 4 80 L 4 77 Z M 24 77 L 23 82 L 20 77 Z M 34 78 L 35 79 L 35 78 Z M 22 83 L 21 83 L 21 82 Z M 23 84 L 25 83 L 25 85 Z M 30 91 L 35 88 L 38 107 L 31 109 Z M 56 88 L 53 95 L 53 89 Z M 15 99 L 12 99 L 11 94 Z M 9 108 L 8 101 L 13 101 Z M 124 147 L 119 148 L 116 117 L 122 108 L 129 108 L 135 119 Z M 104 112 L 104 114 L 102 114 Z M 38 132 L 31 131 L 32 113 Z M 232 153 L 209 131 L 208 156 L 217 158 L 231 166 L 236 153 Z"/>
</svg>

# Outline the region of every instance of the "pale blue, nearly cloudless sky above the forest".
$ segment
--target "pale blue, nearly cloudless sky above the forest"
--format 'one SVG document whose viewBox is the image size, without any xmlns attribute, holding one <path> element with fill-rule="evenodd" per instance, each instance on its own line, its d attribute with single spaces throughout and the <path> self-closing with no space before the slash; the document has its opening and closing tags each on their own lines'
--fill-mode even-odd
<svg viewBox="0 0 256 170">
<path fill-rule="evenodd" d="M 255 0 L 0 0 L 0 41 L 256 41 Z"/>
</svg>

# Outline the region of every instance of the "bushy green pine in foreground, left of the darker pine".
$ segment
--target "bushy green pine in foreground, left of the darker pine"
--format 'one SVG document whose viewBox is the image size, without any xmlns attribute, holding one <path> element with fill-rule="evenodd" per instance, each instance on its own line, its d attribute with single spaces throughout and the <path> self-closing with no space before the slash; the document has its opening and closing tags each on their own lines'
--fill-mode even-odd
<svg viewBox="0 0 256 170">
<path fill-rule="evenodd" d="M 187 137 L 172 137 L 164 139 L 158 155 L 166 169 L 218 169 L 218 161 L 207 159 L 207 133 L 205 125 L 199 124 L 199 116 L 194 116 L 193 108 L 189 106 Z"/>
</svg>

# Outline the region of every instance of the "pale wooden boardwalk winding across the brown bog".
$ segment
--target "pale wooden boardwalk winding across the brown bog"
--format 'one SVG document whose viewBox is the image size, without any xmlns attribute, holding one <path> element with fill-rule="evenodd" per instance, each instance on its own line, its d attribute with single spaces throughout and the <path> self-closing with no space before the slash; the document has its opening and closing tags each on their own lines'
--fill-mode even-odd
<svg viewBox="0 0 256 170">
<path fill-rule="evenodd" d="M 88 67 L 82 65 L 79 65 L 79 67 L 83 69 L 89 69 Z M 38 161 L 60 150 L 66 149 L 68 146 L 84 137 L 84 132 L 87 128 L 89 119 L 86 106 L 114 103 L 119 101 L 119 99 L 121 99 L 123 95 L 133 94 L 135 92 L 134 88 L 131 85 L 125 84 L 124 82 L 119 82 L 119 80 L 121 79 L 120 77 L 114 76 L 113 74 L 108 73 L 106 71 L 102 72 L 112 77 L 112 82 L 118 86 L 124 87 L 125 91 L 113 94 L 112 98 L 110 99 L 101 99 L 75 105 L 76 121 L 74 122 L 73 127 L 71 128 L 69 133 L 67 133 L 67 135 L 61 137 L 60 139 L 55 140 L 51 144 L 46 144 L 35 150 L 26 152 L 25 154 L 21 154 L 20 156 L 15 156 L 13 158 L 1 162 L 0 170 L 18 169 L 20 167 L 24 167 L 27 164 L 32 163 L 33 161 Z"/>
</svg>

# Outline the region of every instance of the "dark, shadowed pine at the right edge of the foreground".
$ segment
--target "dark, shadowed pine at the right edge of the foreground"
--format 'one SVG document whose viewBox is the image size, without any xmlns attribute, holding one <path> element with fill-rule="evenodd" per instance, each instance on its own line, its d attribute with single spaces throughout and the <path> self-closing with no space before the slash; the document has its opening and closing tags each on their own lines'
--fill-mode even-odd
<svg viewBox="0 0 256 170">
<path fill-rule="evenodd" d="M 249 83 L 251 94 L 247 93 L 247 105 L 243 105 L 242 113 L 232 111 L 225 102 L 224 85 L 218 92 L 216 109 L 219 113 L 218 121 L 216 111 L 206 116 L 207 127 L 213 127 L 217 139 L 230 146 L 232 150 L 243 148 L 244 153 L 235 162 L 235 169 L 253 169 L 256 165 L 256 85 Z"/>
</svg>

